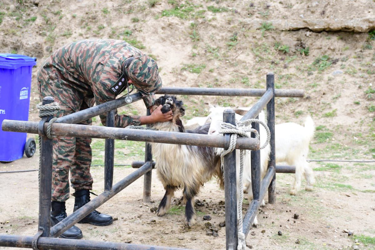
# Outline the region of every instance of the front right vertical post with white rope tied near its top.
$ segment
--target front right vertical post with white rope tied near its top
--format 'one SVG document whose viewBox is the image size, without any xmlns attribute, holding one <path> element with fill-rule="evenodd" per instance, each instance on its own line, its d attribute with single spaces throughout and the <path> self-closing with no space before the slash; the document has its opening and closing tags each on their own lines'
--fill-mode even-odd
<svg viewBox="0 0 375 250">
<path fill-rule="evenodd" d="M 235 124 L 234 111 L 225 109 L 225 123 Z M 228 149 L 231 134 L 224 134 L 224 149 Z M 225 192 L 225 239 L 226 250 L 237 250 L 237 181 L 236 150 L 224 156 L 224 192 Z"/>
</svg>

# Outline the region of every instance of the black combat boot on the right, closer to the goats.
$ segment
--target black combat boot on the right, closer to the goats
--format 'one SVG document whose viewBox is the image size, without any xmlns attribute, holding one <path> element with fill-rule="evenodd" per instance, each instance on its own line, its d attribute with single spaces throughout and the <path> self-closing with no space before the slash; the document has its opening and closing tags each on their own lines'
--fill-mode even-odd
<svg viewBox="0 0 375 250">
<path fill-rule="evenodd" d="M 90 192 L 89 190 L 77 190 L 73 194 L 75 196 L 74 199 L 74 211 L 78 210 L 78 208 L 82 207 L 86 203 L 90 201 Z M 95 226 L 108 226 L 113 222 L 112 216 L 107 214 L 101 214 L 98 211 L 94 210 L 78 223 L 90 223 L 91 225 Z"/>
</svg>

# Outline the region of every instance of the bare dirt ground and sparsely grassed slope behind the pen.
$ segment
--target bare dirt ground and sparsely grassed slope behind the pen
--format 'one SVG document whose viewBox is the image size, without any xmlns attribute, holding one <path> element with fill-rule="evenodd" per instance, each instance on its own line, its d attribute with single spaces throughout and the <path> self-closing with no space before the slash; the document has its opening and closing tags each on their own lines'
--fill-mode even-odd
<svg viewBox="0 0 375 250">
<path fill-rule="evenodd" d="M 350 6 L 350 7 L 348 7 Z M 366 10 L 366 11 L 365 11 Z M 280 89 L 302 89 L 303 98 L 277 98 L 276 123 L 303 124 L 316 131 L 308 159 L 316 183 L 291 196 L 292 174 L 277 174 L 276 204 L 258 214 L 248 249 L 375 249 L 375 33 L 327 28 L 282 30 L 275 21 L 353 20 L 369 24 L 375 2 L 357 1 L 166 1 L 5 0 L 0 2 L 0 52 L 37 58 L 33 68 L 30 121 L 39 121 L 36 73 L 54 49 L 86 38 L 124 39 L 156 58 L 165 87 L 264 88 L 275 73 Z M 255 25 L 259 21 L 262 25 Z M 329 25 L 328 25 L 329 26 Z M 204 102 L 252 106 L 257 97 L 181 96 L 185 119 L 205 116 Z M 120 109 L 145 113 L 141 102 Z M 99 125 L 99 119 L 94 121 Z M 28 135 L 35 138 L 35 135 Z M 4 142 L 0 142 L 4 143 Z M 93 192 L 104 189 L 104 147 L 94 139 Z M 116 149 L 115 164 L 143 160 L 139 144 Z M 39 153 L 0 162 L 0 171 L 35 170 Z M 134 169 L 116 166 L 114 183 Z M 33 236 L 38 219 L 37 171 L 0 173 L 0 234 Z M 302 189 L 306 184 L 302 183 Z M 163 217 L 153 212 L 164 195 L 153 171 L 151 202 L 142 201 L 143 178 L 98 208 L 116 220 L 110 226 L 77 226 L 85 240 L 126 242 L 188 249 L 225 249 L 224 192 L 215 180 L 197 197 L 196 225 L 184 226 L 184 207 L 173 202 Z M 176 200 L 181 193 L 176 192 Z M 244 202 L 246 211 L 249 201 Z M 67 201 L 73 210 L 74 199 Z M 294 219 L 294 215 L 297 219 Z M 211 220 L 203 220 L 204 216 Z M 218 229 L 206 235 L 207 225 Z M 222 225 L 222 224 L 221 224 Z M 279 231 L 281 235 L 279 235 Z M 11 248 L 1 248 L 11 249 Z"/>
</svg>

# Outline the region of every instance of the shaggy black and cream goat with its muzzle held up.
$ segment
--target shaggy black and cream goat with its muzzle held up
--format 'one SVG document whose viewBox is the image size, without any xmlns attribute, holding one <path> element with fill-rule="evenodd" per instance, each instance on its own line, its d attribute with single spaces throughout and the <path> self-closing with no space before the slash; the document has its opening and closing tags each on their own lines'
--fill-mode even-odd
<svg viewBox="0 0 375 250">
<path fill-rule="evenodd" d="M 155 108 L 163 105 L 162 112 L 172 110 L 171 121 L 154 123 L 152 127 L 160 131 L 207 134 L 210 124 L 205 124 L 195 130 L 185 130 L 180 119 L 185 114 L 183 102 L 175 96 L 165 95 L 155 101 Z M 163 216 L 171 206 L 174 191 L 183 188 L 185 207 L 185 224 L 195 224 L 194 197 L 200 187 L 212 177 L 223 181 L 220 170 L 220 156 L 211 147 L 199 147 L 179 144 L 151 143 L 153 157 L 156 161 L 156 171 L 163 183 L 165 195 L 156 211 L 157 216 Z"/>
</svg>

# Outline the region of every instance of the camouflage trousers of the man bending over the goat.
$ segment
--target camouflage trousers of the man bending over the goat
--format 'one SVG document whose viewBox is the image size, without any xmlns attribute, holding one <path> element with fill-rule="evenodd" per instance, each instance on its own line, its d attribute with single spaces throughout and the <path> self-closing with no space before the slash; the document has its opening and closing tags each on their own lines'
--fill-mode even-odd
<svg viewBox="0 0 375 250">
<path fill-rule="evenodd" d="M 55 117 L 62 117 L 74 113 L 69 106 L 45 89 L 41 89 L 40 97 L 52 96 L 55 102 L 60 103 L 61 109 Z M 91 106 L 91 105 L 90 105 Z M 81 105 L 81 110 L 89 108 L 86 102 Z M 91 119 L 79 124 L 91 125 Z M 69 171 L 71 186 L 75 190 L 92 190 L 93 178 L 90 174 L 92 160 L 91 138 L 58 136 L 53 139 L 52 160 L 52 201 L 63 202 L 69 198 Z"/>
</svg>

